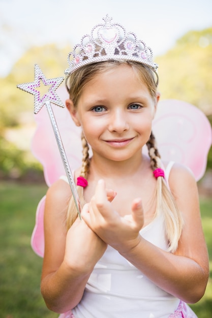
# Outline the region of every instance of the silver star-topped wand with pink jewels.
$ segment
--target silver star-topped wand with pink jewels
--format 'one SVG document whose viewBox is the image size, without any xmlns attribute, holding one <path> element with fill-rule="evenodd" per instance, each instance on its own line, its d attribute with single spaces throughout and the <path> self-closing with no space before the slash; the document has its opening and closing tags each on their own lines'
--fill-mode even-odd
<svg viewBox="0 0 212 318">
<path fill-rule="evenodd" d="M 40 91 L 36 89 L 37 87 L 40 87 L 41 80 L 45 86 L 51 85 L 51 87 L 48 89 L 48 92 L 45 93 L 42 97 L 40 96 L 41 95 Z M 17 85 L 17 87 L 34 95 L 34 113 L 35 114 L 37 114 L 41 110 L 41 108 L 44 105 L 46 105 L 46 108 L 47 108 L 47 111 L 49 114 L 49 118 L 51 120 L 52 128 L 54 131 L 54 135 L 56 138 L 56 142 L 57 142 L 57 145 L 59 148 L 59 152 L 60 152 L 60 155 L 62 157 L 62 161 L 63 161 L 64 168 L 66 171 L 66 175 L 67 175 L 67 178 L 69 180 L 69 184 L 70 184 L 70 187 L 72 190 L 72 195 L 74 197 L 77 212 L 78 212 L 79 218 L 81 219 L 81 203 L 80 203 L 80 200 L 78 197 L 77 188 L 76 188 L 76 185 L 74 183 L 74 178 L 72 176 L 72 172 L 71 172 L 68 160 L 67 160 L 66 152 L 64 150 L 64 146 L 63 146 L 62 140 L 61 140 L 60 135 L 59 135 L 59 131 L 57 128 L 54 113 L 53 113 L 53 110 L 51 108 L 51 103 L 56 105 L 56 106 L 59 106 L 59 107 L 63 107 L 63 108 L 65 107 L 55 92 L 55 90 L 63 82 L 63 80 L 64 80 L 64 77 L 46 79 L 46 77 L 44 76 L 44 74 L 41 71 L 41 69 L 39 68 L 39 66 L 37 64 L 35 64 L 34 82 L 22 83 L 22 84 Z"/>
</svg>

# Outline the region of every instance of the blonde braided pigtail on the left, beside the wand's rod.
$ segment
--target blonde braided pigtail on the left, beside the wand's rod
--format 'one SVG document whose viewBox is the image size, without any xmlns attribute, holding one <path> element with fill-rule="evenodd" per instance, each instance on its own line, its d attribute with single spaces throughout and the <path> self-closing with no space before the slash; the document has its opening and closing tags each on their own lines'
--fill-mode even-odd
<svg viewBox="0 0 212 318">
<path fill-rule="evenodd" d="M 90 165 L 90 160 L 89 160 L 89 146 L 87 144 L 87 141 L 82 133 L 81 135 L 81 140 L 82 140 L 82 169 L 81 169 L 81 173 L 80 176 L 83 177 L 84 179 L 87 178 L 88 175 L 88 171 L 89 171 L 89 165 Z M 84 200 L 84 195 L 83 195 L 83 187 L 77 185 L 77 193 L 79 196 L 79 200 L 81 202 L 81 205 L 83 206 L 85 204 L 85 200 Z M 77 208 L 76 208 L 76 204 L 74 201 L 73 196 L 71 196 L 71 199 L 69 201 L 69 206 L 68 206 L 68 210 L 67 210 L 67 230 L 70 229 L 70 227 L 72 226 L 72 224 L 74 223 L 74 221 L 77 218 Z"/>
</svg>

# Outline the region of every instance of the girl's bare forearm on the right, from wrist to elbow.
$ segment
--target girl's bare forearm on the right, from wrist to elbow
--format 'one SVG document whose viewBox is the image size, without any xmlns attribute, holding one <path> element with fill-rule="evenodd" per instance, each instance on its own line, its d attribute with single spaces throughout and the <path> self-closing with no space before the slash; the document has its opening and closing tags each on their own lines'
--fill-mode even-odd
<svg viewBox="0 0 212 318">
<path fill-rule="evenodd" d="M 197 302 L 204 294 L 208 270 L 190 258 L 166 252 L 142 237 L 120 254 L 158 287 L 185 302 Z"/>
</svg>

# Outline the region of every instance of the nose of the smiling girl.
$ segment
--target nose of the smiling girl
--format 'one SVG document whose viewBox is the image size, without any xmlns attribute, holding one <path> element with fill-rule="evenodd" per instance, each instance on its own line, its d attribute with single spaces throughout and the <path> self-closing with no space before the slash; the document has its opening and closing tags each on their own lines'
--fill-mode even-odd
<svg viewBox="0 0 212 318">
<path fill-rule="evenodd" d="M 127 112 L 119 108 L 114 109 L 110 116 L 109 131 L 123 133 L 129 128 Z"/>
</svg>

